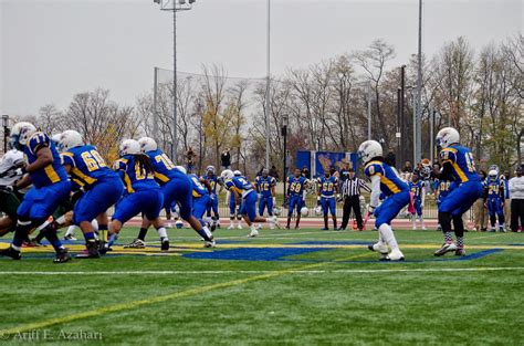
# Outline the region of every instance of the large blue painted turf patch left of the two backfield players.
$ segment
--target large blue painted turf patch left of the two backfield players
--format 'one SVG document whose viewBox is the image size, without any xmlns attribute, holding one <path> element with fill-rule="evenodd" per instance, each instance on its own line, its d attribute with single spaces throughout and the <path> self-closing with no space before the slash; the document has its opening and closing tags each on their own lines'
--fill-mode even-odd
<svg viewBox="0 0 524 346">
<path fill-rule="evenodd" d="M 303 254 L 329 248 L 243 248 L 220 250 L 213 252 L 186 253 L 182 256 L 188 259 L 201 260 L 235 260 L 235 261 L 282 261 L 282 258 Z"/>
</svg>

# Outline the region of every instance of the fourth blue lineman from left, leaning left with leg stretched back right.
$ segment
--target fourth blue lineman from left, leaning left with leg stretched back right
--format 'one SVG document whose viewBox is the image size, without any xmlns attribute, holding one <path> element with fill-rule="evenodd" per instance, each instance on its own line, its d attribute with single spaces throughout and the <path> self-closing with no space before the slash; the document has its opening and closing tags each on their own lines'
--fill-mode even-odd
<svg viewBox="0 0 524 346">
<path fill-rule="evenodd" d="M 213 235 L 209 229 L 200 223 L 192 214 L 192 186 L 191 180 L 186 172 L 177 169 L 169 157 L 158 148 L 155 139 L 143 137 L 138 140 L 140 149 L 149 157 L 154 168 L 155 179 L 161 186 L 164 193 L 164 208 L 169 208 L 172 202 L 179 207 L 179 217 L 187 221 L 191 228 L 205 240 L 206 248 L 214 247 Z M 138 234 L 138 240 L 144 242 L 147 229 L 150 226 L 148 220 L 144 219 Z M 165 244 L 167 245 L 167 243 Z"/>
</svg>

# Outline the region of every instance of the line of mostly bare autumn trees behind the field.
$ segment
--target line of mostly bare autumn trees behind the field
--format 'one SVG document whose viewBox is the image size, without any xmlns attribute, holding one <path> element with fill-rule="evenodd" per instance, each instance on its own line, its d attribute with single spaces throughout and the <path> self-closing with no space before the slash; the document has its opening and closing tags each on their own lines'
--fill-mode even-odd
<svg viewBox="0 0 524 346">
<path fill-rule="evenodd" d="M 511 168 L 522 164 L 524 135 L 524 39 L 521 33 L 475 52 L 464 38 L 444 43 L 433 56 L 422 56 L 422 157 L 430 156 L 431 109 L 436 130 L 458 128 L 482 165 Z M 371 137 L 396 151 L 399 66 L 395 48 L 384 40 L 364 50 L 334 56 L 306 69 L 290 67 L 273 76 L 270 88 L 270 159 L 282 171 L 281 126 L 289 117 L 287 150 L 355 151 L 367 139 L 367 102 L 371 102 Z M 417 82 L 417 55 L 406 63 L 406 85 Z M 229 78 L 223 67 L 202 66 L 199 75 L 182 75 L 177 83 L 179 164 L 189 148 L 199 168 L 220 166 L 230 148 L 233 166 L 252 175 L 265 158 L 265 82 Z M 412 98 L 407 88 L 404 157 L 412 157 Z M 156 101 L 156 102 L 155 102 Z M 156 106 L 155 106 L 156 105 Z M 53 104 L 38 115 L 19 117 L 49 134 L 74 128 L 113 160 L 118 143 L 143 135 L 156 137 L 166 151 L 172 145 L 172 82 L 146 92 L 135 105 L 120 106 L 109 91 L 97 88 L 73 96 L 65 109 Z M 155 129 L 158 129 L 155 134 Z M 397 162 L 398 166 L 401 162 Z M 293 162 L 292 162 L 293 165 Z"/>
</svg>

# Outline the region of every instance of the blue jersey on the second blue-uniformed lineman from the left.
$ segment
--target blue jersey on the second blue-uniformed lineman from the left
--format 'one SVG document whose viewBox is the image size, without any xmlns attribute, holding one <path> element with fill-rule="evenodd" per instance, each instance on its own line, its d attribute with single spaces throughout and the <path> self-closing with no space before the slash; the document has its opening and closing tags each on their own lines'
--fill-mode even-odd
<svg viewBox="0 0 524 346">
<path fill-rule="evenodd" d="M 104 158 L 92 145 L 75 147 L 62 153 L 63 165 L 71 166 L 71 180 L 81 187 L 88 188 L 96 181 L 118 179 L 104 161 Z"/>
</svg>

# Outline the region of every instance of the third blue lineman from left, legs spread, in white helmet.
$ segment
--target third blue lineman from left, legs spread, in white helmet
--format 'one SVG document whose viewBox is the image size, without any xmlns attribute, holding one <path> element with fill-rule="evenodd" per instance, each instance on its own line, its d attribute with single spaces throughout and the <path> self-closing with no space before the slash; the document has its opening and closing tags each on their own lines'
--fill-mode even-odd
<svg viewBox="0 0 524 346">
<path fill-rule="evenodd" d="M 169 240 L 160 220 L 164 207 L 164 195 L 155 181 L 155 169 L 149 157 L 142 153 L 140 145 L 135 139 L 122 141 L 120 158 L 114 168 L 125 184 L 126 193 L 115 207 L 115 214 L 109 224 L 111 247 L 117 239 L 122 226 L 137 213 L 144 213 L 144 219 L 158 230 L 161 249 L 169 250 Z"/>
</svg>

